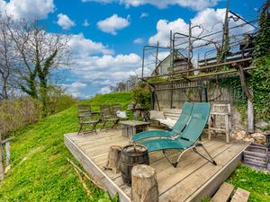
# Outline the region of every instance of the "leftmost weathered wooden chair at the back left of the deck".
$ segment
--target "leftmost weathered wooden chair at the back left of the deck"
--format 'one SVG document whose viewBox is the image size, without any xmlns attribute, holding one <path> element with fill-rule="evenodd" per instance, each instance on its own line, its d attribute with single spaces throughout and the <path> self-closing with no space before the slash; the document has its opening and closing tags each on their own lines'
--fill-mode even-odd
<svg viewBox="0 0 270 202">
<path fill-rule="evenodd" d="M 85 104 L 81 104 L 77 106 L 77 117 L 79 120 L 79 125 L 80 128 L 77 132 L 77 134 L 79 134 L 81 132 L 81 130 L 83 129 L 83 127 L 85 125 L 92 125 L 92 129 L 88 129 L 85 130 L 83 133 L 91 133 L 91 132 L 96 132 L 96 125 L 98 124 L 98 122 L 100 121 L 100 119 L 98 119 L 96 116 L 94 116 L 94 114 L 92 113 L 91 110 L 91 105 L 85 105 Z"/>
</svg>

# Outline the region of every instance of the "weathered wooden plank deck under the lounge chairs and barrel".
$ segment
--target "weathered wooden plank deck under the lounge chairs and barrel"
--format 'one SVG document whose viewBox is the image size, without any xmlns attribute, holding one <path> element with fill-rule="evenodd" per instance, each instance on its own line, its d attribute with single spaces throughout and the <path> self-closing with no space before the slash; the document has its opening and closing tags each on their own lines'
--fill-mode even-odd
<svg viewBox="0 0 270 202">
<path fill-rule="evenodd" d="M 121 130 L 98 132 L 98 135 L 77 136 L 76 133 L 66 134 L 65 144 L 76 157 L 85 171 L 113 196 L 119 193 L 121 201 L 130 201 L 131 189 L 123 184 L 121 173 L 104 171 L 109 147 L 111 145 L 127 145 L 129 140 L 121 136 Z M 241 160 L 242 151 L 249 145 L 247 142 L 232 140 L 225 143 L 225 138 L 213 138 L 211 141 L 202 139 L 217 166 L 207 162 L 193 151 L 182 157 L 177 168 L 174 168 L 162 154 L 151 153 L 150 165 L 157 171 L 159 201 L 201 201 L 211 196 L 234 171 Z M 199 148 L 201 151 L 201 148 Z M 176 151 L 170 151 L 175 156 Z"/>
</svg>

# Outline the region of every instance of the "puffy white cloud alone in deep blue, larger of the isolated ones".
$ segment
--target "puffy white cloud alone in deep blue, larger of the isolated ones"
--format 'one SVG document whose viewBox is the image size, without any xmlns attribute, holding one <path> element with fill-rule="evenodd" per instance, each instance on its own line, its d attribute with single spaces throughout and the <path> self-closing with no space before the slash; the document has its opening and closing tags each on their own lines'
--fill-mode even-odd
<svg viewBox="0 0 270 202">
<path fill-rule="evenodd" d="M 116 35 L 117 31 L 130 25 L 130 16 L 127 18 L 119 17 L 117 14 L 112 14 L 111 17 L 104 19 L 103 21 L 97 22 L 97 27 L 104 32 Z"/>
</svg>

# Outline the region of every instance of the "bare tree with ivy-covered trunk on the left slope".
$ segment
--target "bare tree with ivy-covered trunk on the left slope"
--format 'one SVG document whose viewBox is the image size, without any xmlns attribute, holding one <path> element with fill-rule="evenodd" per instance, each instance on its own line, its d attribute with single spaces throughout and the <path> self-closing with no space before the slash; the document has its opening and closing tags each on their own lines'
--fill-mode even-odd
<svg viewBox="0 0 270 202">
<path fill-rule="evenodd" d="M 18 55 L 16 73 L 21 90 L 43 104 L 47 115 L 49 78 L 53 70 L 69 66 L 69 38 L 65 34 L 49 33 L 37 20 L 8 23 L 9 36 Z"/>
</svg>

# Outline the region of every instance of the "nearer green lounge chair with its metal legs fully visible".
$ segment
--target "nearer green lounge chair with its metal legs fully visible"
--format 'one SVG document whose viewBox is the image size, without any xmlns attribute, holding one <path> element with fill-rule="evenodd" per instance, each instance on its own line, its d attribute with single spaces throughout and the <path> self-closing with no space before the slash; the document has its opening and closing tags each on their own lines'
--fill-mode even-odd
<svg viewBox="0 0 270 202">
<path fill-rule="evenodd" d="M 207 102 L 194 103 L 192 117 L 187 123 L 186 127 L 184 128 L 184 131 L 181 133 L 180 136 L 176 136 L 173 138 L 159 138 L 146 140 L 140 142 L 140 144 L 147 146 L 148 152 L 162 150 L 163 154 L 165 154 L 166 156 L 166 159 L 174 167 L 177 166 L 181 156 L 191 149 L 196 154 L 201 155 L 203 158 L 216 165 L 217 163 L 212 159 L 211 154 L 207 152 L 202 143 L 197 143 L 198 139 L 202 134 L 202 130 L 205 127 L 205 124 L 207 123 L 209 114 L 210 114 L 210 103 Z M 202 149 L 205 151 L 205 153 L 208 155 L 209 158 L 205 157 L 204 155 L 200 154 L 197 151 L 196 147 L 199 146 L 202 147 Z M 173 162 L 166 154 L 166 150 L 168 149 L 182 150 L 182 153 L 178 156 L 176 162 Z"/>
</svg>

